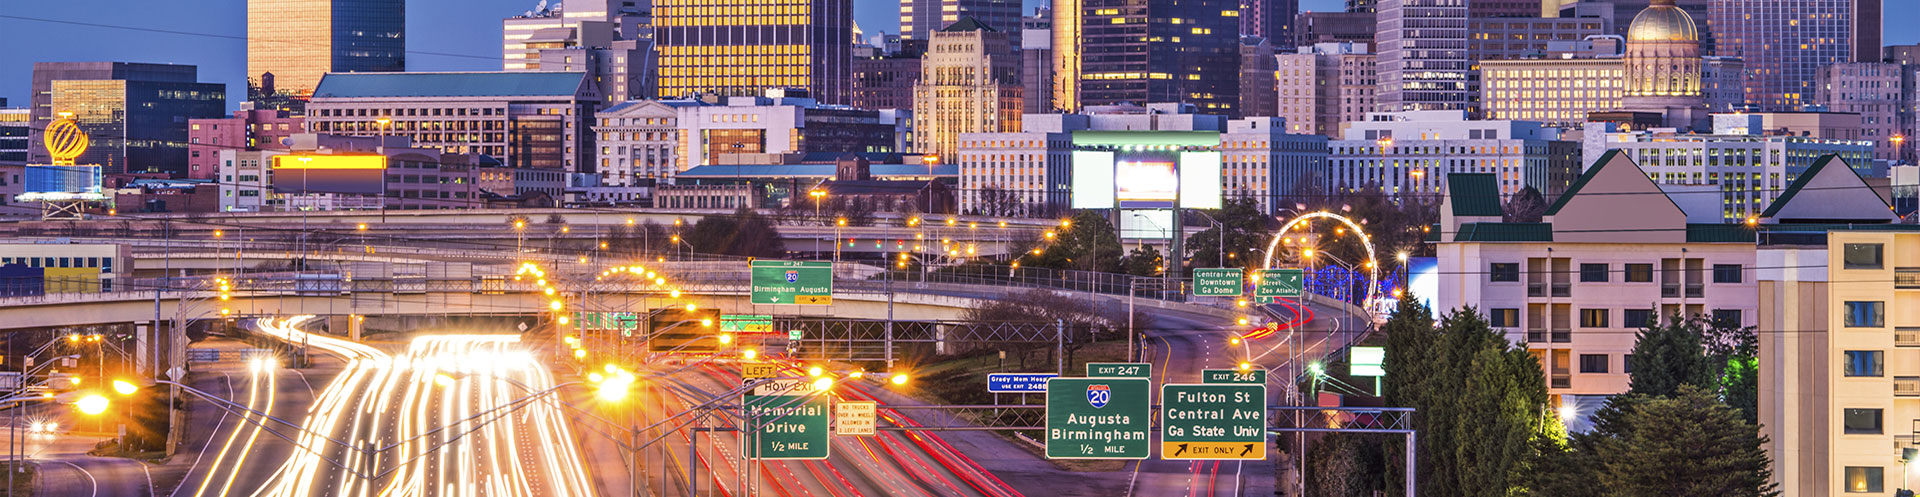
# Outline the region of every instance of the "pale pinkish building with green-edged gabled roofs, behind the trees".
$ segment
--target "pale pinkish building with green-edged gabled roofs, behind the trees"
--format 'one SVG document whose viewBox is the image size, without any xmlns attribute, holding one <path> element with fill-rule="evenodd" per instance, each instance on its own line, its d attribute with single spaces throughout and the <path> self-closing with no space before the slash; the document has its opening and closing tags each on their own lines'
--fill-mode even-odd
<svg viewBox="0 0 1920 497">
<path fill-rule="evenodd" d="M 1496 175 L 1450 175 L 1440 205 L 1438 309 L 1473 305 L 1540 361 L 1553 403 L 1592 426 L 1628 390 L 1636 330 L 1707 315 L 1753 326 L 1753 230 L 1684 209 L 1605 154 L 1540 223 L 1503 223 Z"/>
</svg>

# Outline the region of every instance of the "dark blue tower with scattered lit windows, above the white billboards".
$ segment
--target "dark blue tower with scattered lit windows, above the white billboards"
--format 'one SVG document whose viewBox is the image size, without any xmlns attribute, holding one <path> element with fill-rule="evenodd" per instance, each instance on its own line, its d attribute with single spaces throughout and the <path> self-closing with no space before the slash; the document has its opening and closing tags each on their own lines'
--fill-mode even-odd
<svg viewBox="0 0 1920 497">
<path fill-rule="evenodd" d="M 1079 42 L 1079 106 L 1179 102 L 1200 113 L 1240 115 L 1238 0 L 1075 4 L 1081 35 L 1071 42 Z M 1054 40 L 1064 31 L 1060 8 L 1054 6 Z M 1054 54 L 1068 52 L 1056 44 Z"/>
</svg>

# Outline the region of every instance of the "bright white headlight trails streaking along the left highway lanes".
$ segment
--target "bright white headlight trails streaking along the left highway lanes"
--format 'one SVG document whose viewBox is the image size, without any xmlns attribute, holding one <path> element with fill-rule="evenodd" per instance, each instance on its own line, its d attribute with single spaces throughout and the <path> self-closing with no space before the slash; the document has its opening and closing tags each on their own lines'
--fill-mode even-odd
<svg viewBox="0 0 1920 497">
<path fill-rule="evenodd" d="M 265 424 L 296 439 L 275 455 L 261 424 L 228 424 L 211 462 L 196 466 L 190 495 L 593 495 L 553 374 L 518 336 L 420 336 L 403 353 L 298 326 L 263 322 L 269 336 L 334 353 L 344 368 L 315 395 L 300 428 Z M 271 409 L 267 365 L 248 378 L 244 403 Z M 240 401 L 240 399 L 236 399 Z M 263 482 L 255 464 L 273 468 Z M 213 478 L 207 478 L 207 476 Z"/>
</svg>

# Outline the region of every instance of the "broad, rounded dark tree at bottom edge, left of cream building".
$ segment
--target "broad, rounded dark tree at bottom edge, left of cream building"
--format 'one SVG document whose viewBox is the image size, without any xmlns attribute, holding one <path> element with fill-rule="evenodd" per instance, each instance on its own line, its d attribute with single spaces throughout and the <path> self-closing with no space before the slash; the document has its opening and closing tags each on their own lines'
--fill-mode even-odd
<svg viewBox="0 0 1920 497">
<path fill-rule="evenodd" d="M 1609 495 L 1780 495 L 1759 426 L 1709 390 L 1682 386 L 1626 411 L 1624 422 L 1634 430 L 1603 449 Z"/>
</svg>

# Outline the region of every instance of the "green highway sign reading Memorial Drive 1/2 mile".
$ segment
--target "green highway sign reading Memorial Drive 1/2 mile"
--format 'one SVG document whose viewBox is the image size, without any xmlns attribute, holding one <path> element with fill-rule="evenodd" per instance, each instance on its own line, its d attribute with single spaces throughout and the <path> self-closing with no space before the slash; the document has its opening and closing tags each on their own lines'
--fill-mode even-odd
<svg viewBox="0 0 1920 497">
<path fill-rule="evenodd" d="M 828 395 L 814 393 L 801 380 L 772 380 L 747 395 L 747 420 L 756 426 L 747 432 L 747 457 L 758 459 L 828 459 L 828 439 L 833 418 Z"/>
</svg>

